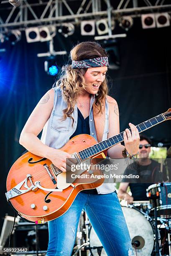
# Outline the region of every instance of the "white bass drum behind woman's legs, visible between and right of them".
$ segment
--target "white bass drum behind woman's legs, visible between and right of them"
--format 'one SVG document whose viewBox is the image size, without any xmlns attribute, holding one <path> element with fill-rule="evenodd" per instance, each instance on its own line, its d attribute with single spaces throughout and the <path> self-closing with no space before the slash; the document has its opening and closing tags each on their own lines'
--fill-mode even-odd
<svg viewBox="0 0 171 256">
<path fill-rule="evenodd" d="M 144 212 L 136 209 L 133 206 L 122 206 L 123 214 L 128 226 L 130 238 L 132 243 L 136 243 L 137 247 L 133 245 L 134 255 L 138 256 L 151 256 L 154 248 L 154 236 L 155 226 L 153 220 Z M 161 244 L 160 233 L 158 231 L 159 246 Z M 90 225 L 89 228 L 89 242 L 90 247 L 96 247 L 90 252 L 92 256 L 107 256 L 104 248 L 100 248 L 102 243 L 100 242 L 94 228 Z M 98 250 L 98 251 L 97 251 Z M 101 251 L 101 254 L 99 253 Z"/>
</svg>

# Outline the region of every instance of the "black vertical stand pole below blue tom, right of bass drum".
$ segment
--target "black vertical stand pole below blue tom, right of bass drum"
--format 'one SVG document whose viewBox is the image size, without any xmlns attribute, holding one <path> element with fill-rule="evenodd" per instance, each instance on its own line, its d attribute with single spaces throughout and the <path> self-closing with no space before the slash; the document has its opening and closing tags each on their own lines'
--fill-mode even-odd
<svg viewBox="0 0 171 256">
<path fill-rule="evenodd" d="M 157 228 L 157 199 L 160 198 L 159 192 L 157 191 L 156 194 L 151 194 L 151 192 L 147 193 L 147 197 L 153 200 L 154 202 L 154 219 L 155 219 L 155 254 L 159 256 L 159 243 L 158 243 L 158 228 Z"/>
</svg>

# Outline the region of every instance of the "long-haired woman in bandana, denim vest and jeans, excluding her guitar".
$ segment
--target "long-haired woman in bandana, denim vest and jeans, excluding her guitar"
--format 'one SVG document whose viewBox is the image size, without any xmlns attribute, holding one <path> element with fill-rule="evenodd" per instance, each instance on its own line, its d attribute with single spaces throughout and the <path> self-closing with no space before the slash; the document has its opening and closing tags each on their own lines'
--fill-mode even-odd
<svg viewBox="0 0 171 256">
<path fill-rule="evenodd" d="M 107 95 L 105 75 L 109 64 L 105 49 L 96 42 L 83 42 L 71 50 L 71 60 L 72 64 L 65 67 L 56 86 L 38 102 L 20 136 L 21 145 L 51 160 L 62 172 L 66 172 L 66 159 L 72 156 L 59 148 L 69 139 L 84 133 L 102 141 L 120 133 L 117 102 Z M 94 120 L 98 115 L 105 118 L 97 127 Z M 125 154 L 131 157 L 138 153 L 139 133 L 135 125 L 129 125 L 131 132 L 125 130 L 124 142 Z M 39 140 L 37 136 L 42 129 Z M 124 146 L 119 143 L 108 149 L 107 154 L 121 158 L 123 150 Z M 71 255 L 82 210 L 87 212 L 108 256 L 133 255 L 114 184 L 103 183 L 79 192 L 69 210 L 48 222 L 46 256 Z"/>
</svg>

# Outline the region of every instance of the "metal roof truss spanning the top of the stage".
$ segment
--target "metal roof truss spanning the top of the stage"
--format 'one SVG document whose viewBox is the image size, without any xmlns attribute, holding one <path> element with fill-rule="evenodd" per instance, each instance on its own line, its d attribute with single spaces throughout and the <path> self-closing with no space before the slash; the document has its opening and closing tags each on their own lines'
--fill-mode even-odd
<svg viewBox="0 0 171 256">
<path fill-rule="evenodd" d="M 81 20 L 107 18 L 109 11 L 116 19 L 123 15 L 138 17 L 142 13 L 171 12 L 171 1 L 21 0 L 20 7 L 15 8 L 5 0 L 0 5 L 0 29 L 24 30 L 30 26 L 60 26 L 66 22 L 76 24 Z"/>
</svg>

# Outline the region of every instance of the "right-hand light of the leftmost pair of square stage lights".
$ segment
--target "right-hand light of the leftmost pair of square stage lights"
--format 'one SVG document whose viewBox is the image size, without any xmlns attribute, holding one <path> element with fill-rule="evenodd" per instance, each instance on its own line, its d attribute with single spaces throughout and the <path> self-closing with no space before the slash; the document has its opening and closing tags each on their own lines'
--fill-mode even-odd
<svg viewBox="0 0 171 256">
<path fill-rule="evenodd" d="M 50 41 L 56 35 L 56 27 L 55 26 L 43 26 L 39 27 L 40 33 L 40 41 Z"/>
</svg>

